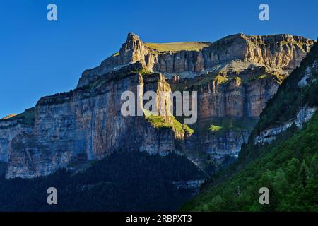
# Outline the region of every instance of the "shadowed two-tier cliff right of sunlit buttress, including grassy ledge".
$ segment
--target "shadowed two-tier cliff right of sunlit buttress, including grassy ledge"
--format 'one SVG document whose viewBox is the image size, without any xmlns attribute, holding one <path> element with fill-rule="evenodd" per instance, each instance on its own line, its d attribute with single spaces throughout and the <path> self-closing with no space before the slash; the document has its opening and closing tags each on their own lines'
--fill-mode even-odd
<svg viewBox="0 0 318 226">
<path fill-rule="evenodd" d="M 225 85 L 208 84 L 199 90 L 199 140 L 214 160 L 230 155 L 237 157 L 243 143 L 259 119 L 266 102 L 278 90 L 278 83 L 264 78 L 243 84 L 231 81 Z M 204 125 L 219 126 L 220 129 Z"/>
</svg>

